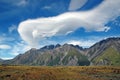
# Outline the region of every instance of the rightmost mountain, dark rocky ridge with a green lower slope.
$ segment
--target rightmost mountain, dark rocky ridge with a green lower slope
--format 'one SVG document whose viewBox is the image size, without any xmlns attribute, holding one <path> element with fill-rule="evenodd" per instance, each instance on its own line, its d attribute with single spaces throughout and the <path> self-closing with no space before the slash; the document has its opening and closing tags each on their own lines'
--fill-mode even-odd
<svg viewBox="0 0 120 80">
<path fill-rule="evenodd" d="M 86 50 L 93 65 L 120 65 L 120 38 L 102 40 Z"/>
</svg>

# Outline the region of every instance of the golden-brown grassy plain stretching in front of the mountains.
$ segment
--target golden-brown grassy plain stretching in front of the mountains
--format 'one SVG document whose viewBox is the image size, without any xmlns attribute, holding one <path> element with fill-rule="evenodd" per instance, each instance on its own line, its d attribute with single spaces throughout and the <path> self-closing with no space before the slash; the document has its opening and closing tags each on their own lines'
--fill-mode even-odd
<svg viewBox="0 0 120 80">
<path fill-rule="evenodd" d="M 0 66 L 0 80 L 120 80 L 120 67 Z"/>
</svg>

